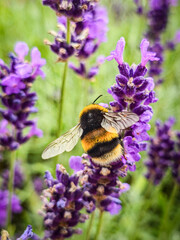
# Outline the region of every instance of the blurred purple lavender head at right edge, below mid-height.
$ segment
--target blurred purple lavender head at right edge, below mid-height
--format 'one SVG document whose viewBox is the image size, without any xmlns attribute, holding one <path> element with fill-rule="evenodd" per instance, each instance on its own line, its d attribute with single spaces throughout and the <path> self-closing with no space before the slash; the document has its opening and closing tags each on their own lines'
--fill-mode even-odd
<svg viewBox="0 0 180 240">
<path fill-rule="evenodd" d="M 150 139 L 145 177 L 155 185 L 161 182 L 168 169 L 180 184 L 180 132 L 172 130 L 174 123 L 174 118 L 164 124 L 157 121 L 156 136 Z"/>
</svg>

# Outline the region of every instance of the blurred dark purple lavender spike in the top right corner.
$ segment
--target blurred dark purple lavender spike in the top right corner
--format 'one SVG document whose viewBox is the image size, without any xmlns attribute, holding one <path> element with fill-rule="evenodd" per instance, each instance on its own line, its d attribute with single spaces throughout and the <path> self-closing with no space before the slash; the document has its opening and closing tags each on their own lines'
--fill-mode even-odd
<svg viewBox="0 0 180 240">
<path fill-rule="evenodd" d="M 140 1 L 135 1 L 139 8 Z M 148 29 L 145 36 L 151 41 L 150 50 L 156 53 L 159 58 L 158 62 L 152 61 L 148 71 L 149 76 L 156 80 L 156 85 L 163 82 L 161 73 L 163 72 L 164 52 L 165 50 L 174 50 L 175 46 L 180 42 L 179 31 L 177 31 L 174 39 L 162 43 L 162 34 L 167 28 L 171 7 L 177 5 L 177 1 L 172 0 L 151 0 L 149 1 L 149 11 L 144 12 L 147 17 Z M 142 8 L 142 6 L 140 6 Z"/>
</svg>

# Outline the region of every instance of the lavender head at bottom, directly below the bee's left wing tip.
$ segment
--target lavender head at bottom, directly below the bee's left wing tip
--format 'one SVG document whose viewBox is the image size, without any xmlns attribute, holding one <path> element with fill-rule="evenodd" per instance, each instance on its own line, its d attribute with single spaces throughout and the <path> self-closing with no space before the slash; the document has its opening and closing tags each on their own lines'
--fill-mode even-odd
<svg viewBox="0 0 180 240">
<path fill-rule="evenodd" d="M 44 202 L 44 239 L 64 239 L 73 234 L 80 234 L 74 229 L 79 222 L 85 222 L 86 214 L 80 213 L 83 208 L 83 192 L 78 185 L 77 175 L 69 176 L 62 165 L 56 167 L 56 179 L 49 171 L 45 174 L 48 189 L 43 191 Z"/>
</svg>

